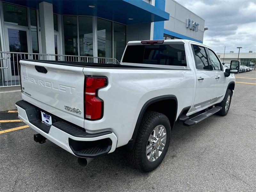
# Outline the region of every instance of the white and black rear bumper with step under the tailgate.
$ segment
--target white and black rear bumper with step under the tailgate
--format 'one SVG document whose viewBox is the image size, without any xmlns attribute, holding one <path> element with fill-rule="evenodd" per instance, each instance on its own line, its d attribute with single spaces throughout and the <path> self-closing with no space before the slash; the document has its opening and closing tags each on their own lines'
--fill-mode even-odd
<svg viewBox="0 0 256 192">
<path fill-rule="evenodd" d="M 18 109 L 18 117 L 24 123 L 75 156 L 92 158 L 116 149 L 117 137 L 111 131 L 87 133 L 58 117 L 56 122 L 48 126 L 40 120 L 39 112 L 43 110 L 23 100 L 18 101 L 15 106 Z"/>
</svg>

